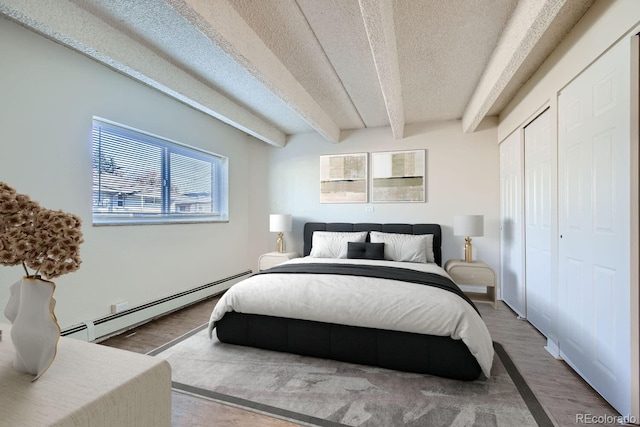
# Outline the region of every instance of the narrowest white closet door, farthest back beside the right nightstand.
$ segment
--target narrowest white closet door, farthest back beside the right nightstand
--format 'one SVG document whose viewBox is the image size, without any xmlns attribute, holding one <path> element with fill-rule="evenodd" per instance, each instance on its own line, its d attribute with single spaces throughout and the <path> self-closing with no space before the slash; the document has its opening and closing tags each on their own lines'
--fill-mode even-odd
<svg viewBox="0 0 640 427">
<path fill-rule="evenodd" d="M 522 246 L 522 138 L 500 144 L 500 290 L 502 300 L 525 317 Z"/>
</svg>

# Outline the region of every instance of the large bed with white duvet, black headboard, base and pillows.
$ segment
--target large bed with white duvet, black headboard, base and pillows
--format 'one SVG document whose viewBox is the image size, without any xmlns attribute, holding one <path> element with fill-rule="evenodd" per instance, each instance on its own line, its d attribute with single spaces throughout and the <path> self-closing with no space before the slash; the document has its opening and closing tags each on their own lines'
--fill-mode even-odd
<svg viewBox="0 0 640 427">
<path fill-rule="evenodd" d="M 437 224 L 306 223 L 304 256 L 229 289 L 221 342 L 458 380 L 489 377 L 493 344 L 441 268 Z"/>
</svg>

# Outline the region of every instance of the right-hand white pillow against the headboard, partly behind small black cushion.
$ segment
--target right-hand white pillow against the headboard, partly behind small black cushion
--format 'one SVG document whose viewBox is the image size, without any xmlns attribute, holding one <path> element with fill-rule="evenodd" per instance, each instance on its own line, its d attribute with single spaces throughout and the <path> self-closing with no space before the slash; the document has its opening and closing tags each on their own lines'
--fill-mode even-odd
<svg viewBox="0 0 640 427">
<path fill-rule="evenodd" d="M 436 262 L 433 234 L 370 233 L 372 243 L 384 243 L 384 258 L 391 261 Z"/>
</svg>

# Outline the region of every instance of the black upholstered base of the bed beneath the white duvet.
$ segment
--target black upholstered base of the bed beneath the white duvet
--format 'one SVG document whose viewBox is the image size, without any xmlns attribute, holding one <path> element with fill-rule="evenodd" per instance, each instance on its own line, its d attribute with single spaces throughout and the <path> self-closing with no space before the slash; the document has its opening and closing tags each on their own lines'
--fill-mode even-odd
<svg viewBox="0 0 640 427">
<path fill-rule="evenodd" d="M 221 342 L 472 381 L 480 365 L 461 340 L 283 317 L 226 313 Z"/>
</svg>

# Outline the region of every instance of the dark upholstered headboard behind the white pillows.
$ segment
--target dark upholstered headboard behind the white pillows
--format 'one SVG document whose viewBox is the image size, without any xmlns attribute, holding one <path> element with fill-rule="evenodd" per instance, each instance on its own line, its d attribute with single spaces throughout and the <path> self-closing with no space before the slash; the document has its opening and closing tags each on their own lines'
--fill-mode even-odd
<svg viewBox="0 0 640 427">
<path fill-rule="evenodd" d="M 439 224 L 373 224 L 347 222 L 307 222 L 304 225 L 304 256 L 311 253 L 314 231 L 381 231 L 399 234 L 433 234 L 433 255 L 442 266 L 442 230 Z"/>
</svg>

